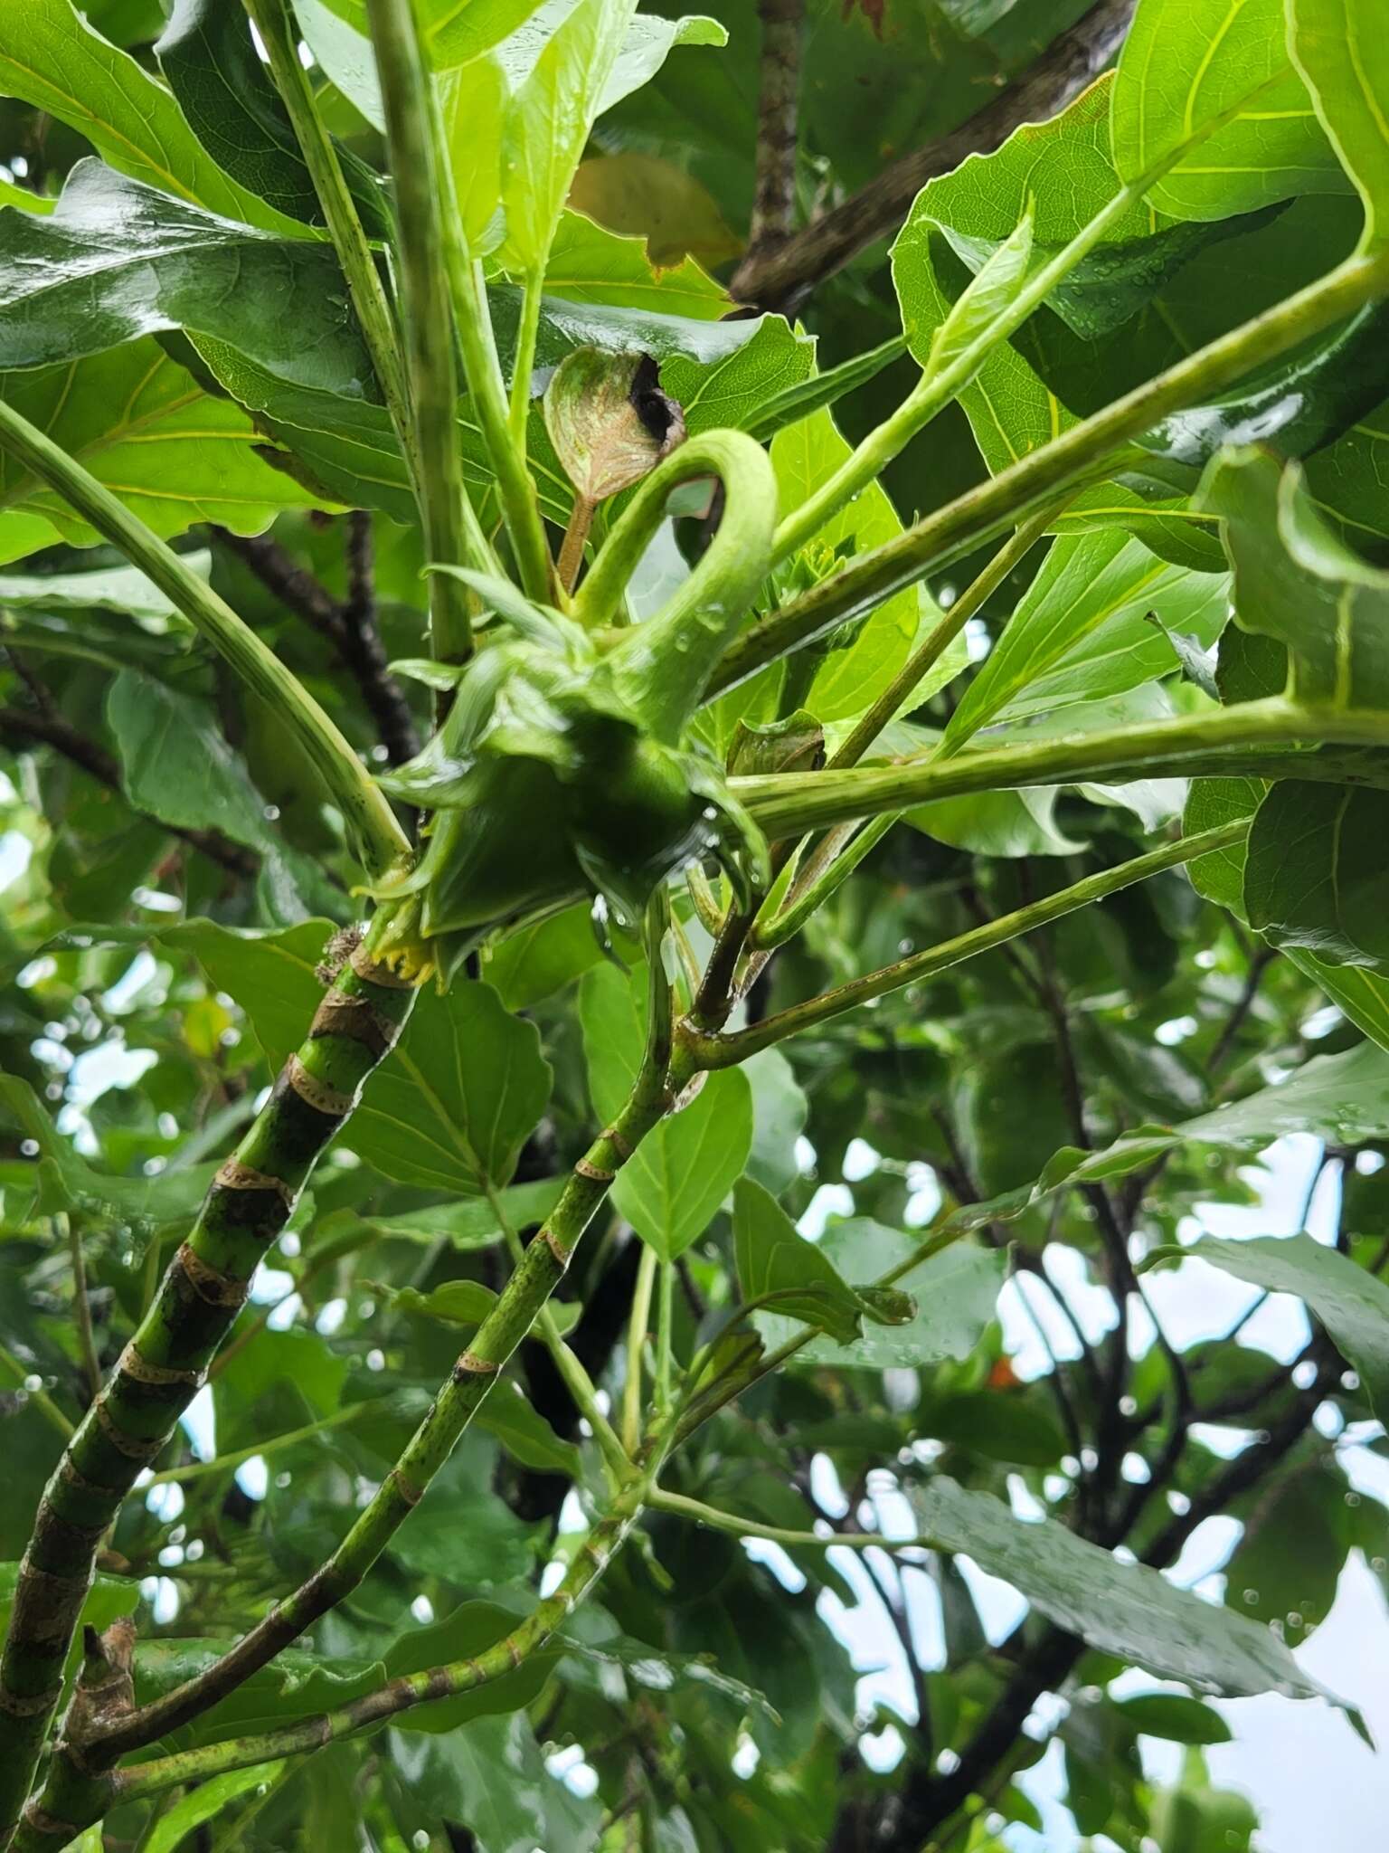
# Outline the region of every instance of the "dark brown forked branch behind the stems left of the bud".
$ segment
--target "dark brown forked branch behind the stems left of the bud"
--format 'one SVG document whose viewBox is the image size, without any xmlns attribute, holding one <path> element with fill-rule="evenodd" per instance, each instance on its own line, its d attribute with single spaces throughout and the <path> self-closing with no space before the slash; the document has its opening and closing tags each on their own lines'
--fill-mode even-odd
<svg viewBox="0 0 1389 1853">
<path fill-rule="evenodd" d="M 232 534 L 213 528 L 217 539 L 233 552 L 274 593 L 287 611 L 324 637 L 357 684 L 363 704 L 393 765 L 413 760 L 419 737 L 404 689 L 385 665 L 385 649 L 376 628 L 376 586 L 372 576 L 370 515 L 348 515 L 348 597 L 337 604 L 326 586 L 302 567 L 289 548 L 270 534 Z"/>
</svg>

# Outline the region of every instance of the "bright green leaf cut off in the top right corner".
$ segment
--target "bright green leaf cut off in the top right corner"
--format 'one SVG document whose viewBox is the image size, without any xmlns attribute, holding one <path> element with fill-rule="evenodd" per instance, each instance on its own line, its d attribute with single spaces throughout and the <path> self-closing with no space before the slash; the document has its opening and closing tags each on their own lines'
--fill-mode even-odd
<svg viewBox="0 0 1389 1853">
<path fill-rule="evenodd" d="M 1365 200 L 1365 248 L 1389 237 L 1389 46 L 1374 0 L 1289 0 L 1289 50 Z"/>
</svg>

